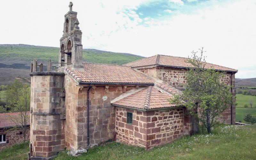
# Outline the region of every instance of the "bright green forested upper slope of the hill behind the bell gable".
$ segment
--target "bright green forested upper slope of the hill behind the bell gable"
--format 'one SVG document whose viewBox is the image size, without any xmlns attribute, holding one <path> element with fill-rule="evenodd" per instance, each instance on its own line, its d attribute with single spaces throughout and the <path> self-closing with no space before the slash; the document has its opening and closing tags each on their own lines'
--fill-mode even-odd
<svg viewBox="0 0 256 160">
<path fill-rule="evenodd" d="M 7 61 L 19 64 L 19 62 L 27 62 L 29 64 L 33 59 L 41 62 L 46 62 L 48 59 L 52 59 L 57 62 L 59 57 L 58 47 L 45 47 L 34 46 L 27 44 L 0 44 L 0 59 L 3 68 L 8 68 L 8 65 L 3 65 Z M 95 49 L 83 49 L 83 61 L 89 61 L 93 63 L 106 63 L 106 64 L 125 64 L 135 60 L 140 60 L 144 57 L 130 54 L 130 53 L 117 53 L 107 52 Z M 6 63 L 7 64 L 7 63 Z M 17 65 L 14 65 L 17 66 Z M 12 67 L 10 67 L 12 68 Z"/>
</svg>

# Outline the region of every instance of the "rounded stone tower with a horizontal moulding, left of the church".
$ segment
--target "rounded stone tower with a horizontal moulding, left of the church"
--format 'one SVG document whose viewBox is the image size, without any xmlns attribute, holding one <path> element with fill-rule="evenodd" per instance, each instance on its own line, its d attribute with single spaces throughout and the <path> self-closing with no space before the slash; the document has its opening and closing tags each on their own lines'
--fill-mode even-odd
<svg viewBox="0 0 256 160">
<path fill-rule="evenodd" d="M 60 96 L 63 81 L 64 75 L 54 73 L 31 77 L 30 143 L 33 157 L 51 157 L 65 148 L 65 106 L 64 97 Z"/>
</svg>

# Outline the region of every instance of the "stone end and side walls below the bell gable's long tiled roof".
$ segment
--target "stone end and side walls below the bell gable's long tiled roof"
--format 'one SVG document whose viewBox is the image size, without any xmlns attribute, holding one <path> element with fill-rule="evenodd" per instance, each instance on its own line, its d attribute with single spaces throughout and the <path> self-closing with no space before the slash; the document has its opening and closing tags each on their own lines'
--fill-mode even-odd
<svg viewBox="0 0 256 160">
<path fill-rule="evenodd" d="M 72 154 L 87 147 L 87 91 L 89 86 L 77 86 L 69 76 L 65 77 L 66 90 L 66 147 Z M 110 101 L 132 92 L 136 86 L 94 86 L 89 91 L 89 146 L 113 139 L 115 132 L 115 106 Z"/>
</svg>

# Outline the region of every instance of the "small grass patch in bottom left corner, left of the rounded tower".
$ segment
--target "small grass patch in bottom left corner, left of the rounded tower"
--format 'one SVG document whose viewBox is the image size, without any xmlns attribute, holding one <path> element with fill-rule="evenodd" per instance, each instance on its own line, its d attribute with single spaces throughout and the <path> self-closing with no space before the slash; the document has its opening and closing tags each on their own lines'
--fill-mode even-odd
<svg viewBox="0 0 256 160">
<path fill-rule="evenodd" d="M 15 144 L 0 151 L 1 160 L 22 160 L 28 159 L 29 141 Z"/>
</svg>

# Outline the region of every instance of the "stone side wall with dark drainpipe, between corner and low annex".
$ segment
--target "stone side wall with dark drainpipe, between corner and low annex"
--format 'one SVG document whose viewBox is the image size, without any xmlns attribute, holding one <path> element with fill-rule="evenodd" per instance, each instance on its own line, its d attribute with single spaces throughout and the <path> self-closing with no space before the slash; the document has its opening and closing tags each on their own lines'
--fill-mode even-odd
<svg viewBox="0 0 256 160">
<path fill-rule="evenodd" d="M 135 90 L 135 86 L 92 86 L 89 92 L 89 145 L 93 146 L 114 138 L 115 111 L 110 101 L 116 97 Z M 77 125 L 78 148 L 87 148 L 87 90 L 78 92 Z"/>
</svg>

